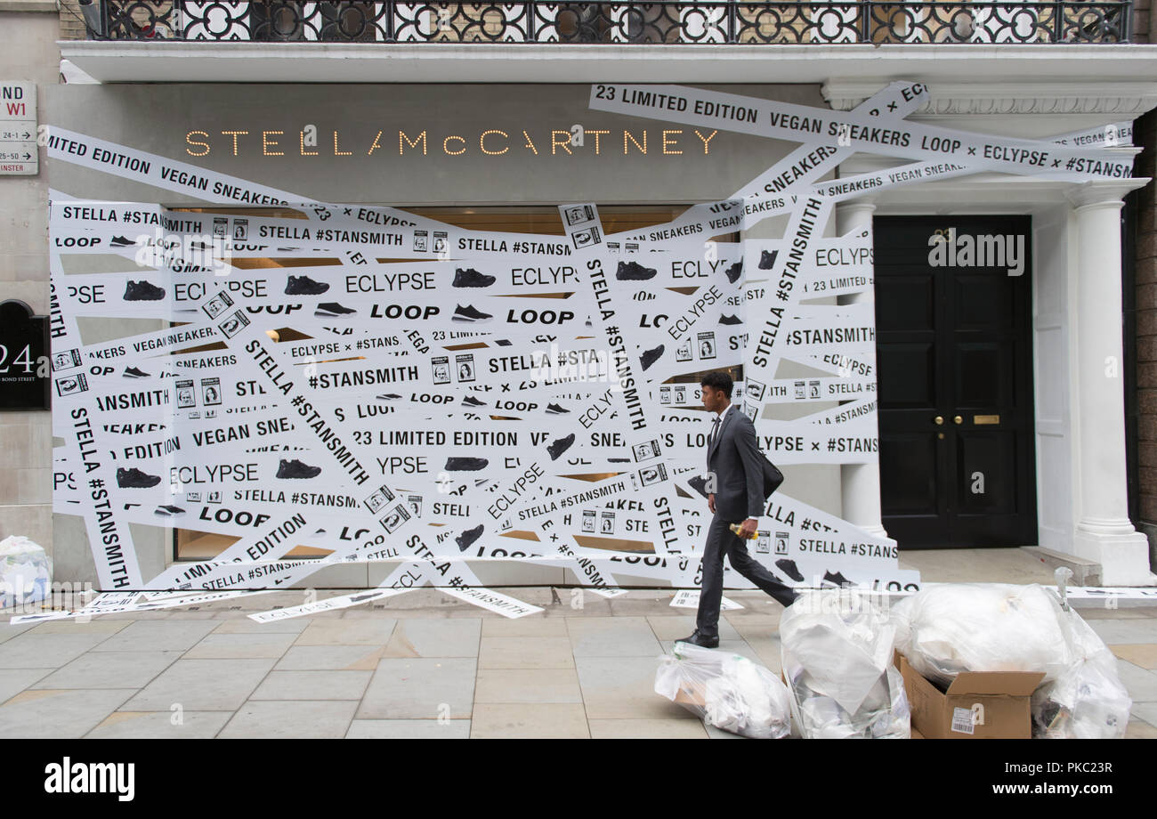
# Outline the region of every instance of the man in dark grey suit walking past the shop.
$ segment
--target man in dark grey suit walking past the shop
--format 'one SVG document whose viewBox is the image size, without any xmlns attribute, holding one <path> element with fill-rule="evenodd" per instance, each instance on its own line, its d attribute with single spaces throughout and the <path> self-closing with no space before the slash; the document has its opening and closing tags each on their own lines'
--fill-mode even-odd
<svg viewBox="0 0 1157 819">
<path fill-rule="evenodd" d="M 703 648 L 720 644 L 720 602 L 723 597 L 723 555 L 731 568 L 750 580 L 784 606 L 790 606 L 795 591 L 781 583 L 754 558 L 747 554 L 744 540 L 729 529 L 740 523 L 744 534 L 753 534 L 764 514 L 764 457 L 756 442 L 756 425 L 731 406 L 731 376 L 723 371 L 708 372 L 700 388 L 703 407 L 715 413 L 707 441 L 707 508 L 714 512 L 707 527 L 703 548 L 702 585 L 699 592 L 699 615 L 695 630 L 681 642 Z M 714 481 L 712 480 L 714 478 Z M 714 492 L 712 492 L 714 489 Z"/>
</svg>

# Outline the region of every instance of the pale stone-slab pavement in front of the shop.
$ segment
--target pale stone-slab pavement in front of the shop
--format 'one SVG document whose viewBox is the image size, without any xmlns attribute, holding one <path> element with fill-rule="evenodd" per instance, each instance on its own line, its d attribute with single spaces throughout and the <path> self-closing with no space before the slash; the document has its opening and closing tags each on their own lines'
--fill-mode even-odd
<svg viewBox="0 0 1157 819">
<path fill-rule="evenodd" d="M 1026 553 L 998 552 L 989 561 L 995 577 L 960 552 L 905 552 L 901 561 L 926 581 L 1051 581 Z M 271 624 L 246 617 L 303 602 L 302 591 L 278 591 L 87 624 L 2 622 L 0 732 L 734 738 L 653 691 L 657 658 L 694 628 L 694 611 L 671 607 L 672 592 L 631 590 L 609 600 L 538 586 L 498 591 L 543 612 L 508 620 L 420 589 Z M 779 671 L 782 606 L 757 590 L 728 597 L 744 607 L 723 613 L 721 648 Z M 1157 738 L 1157 607 L 1081 611 L 1119 658 L 1134 699 L 1128 736 Z"/>
</svg>

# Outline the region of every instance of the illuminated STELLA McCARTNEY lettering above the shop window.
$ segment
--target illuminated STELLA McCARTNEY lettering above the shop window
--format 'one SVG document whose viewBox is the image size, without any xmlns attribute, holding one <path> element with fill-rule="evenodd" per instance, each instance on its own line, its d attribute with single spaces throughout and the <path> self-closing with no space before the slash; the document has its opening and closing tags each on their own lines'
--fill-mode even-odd
<svg viewBox="0 0 1157 819">
<path fill-rule="evenodd" d="M 707 156 L 715 128 L 486 128 L 477 132 L 439 133 L 430 128 L 378 130 L 371 138 L 358 136 L 340 128 L 319 131 L 305 125 L 299 131 L 259 127 L 229 131 L 191 130 L 185 134 L 185 154 L 208 156 L 228 152 L 233 156 L 502 156 L 521 153 L 526 156 L 575 156 L 582 152 L 595 156 Z"/>
</svg>

